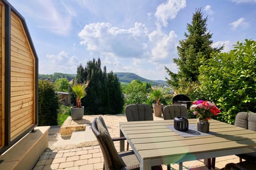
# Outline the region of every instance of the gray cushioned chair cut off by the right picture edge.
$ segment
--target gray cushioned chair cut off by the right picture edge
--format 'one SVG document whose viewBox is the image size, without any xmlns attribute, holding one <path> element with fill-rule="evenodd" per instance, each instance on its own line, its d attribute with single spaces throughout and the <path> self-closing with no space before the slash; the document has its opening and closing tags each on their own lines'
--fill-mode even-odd
<svg viewBox="0 0 256 170">
<path fill-rule="evenodd" d="M 256 113 L 249 113 L 249 112 L 237 113 L 235 118 L 235 125 L 244 129 L 256 131 Z M 237 156 L 239 156 L 240 162 L 242 162 L 242 159 L 256 162 L 256 152 L 251 152 L 248 154 L 239 154 Z"/>
</svg>

